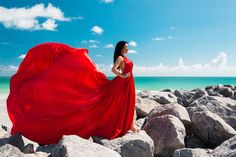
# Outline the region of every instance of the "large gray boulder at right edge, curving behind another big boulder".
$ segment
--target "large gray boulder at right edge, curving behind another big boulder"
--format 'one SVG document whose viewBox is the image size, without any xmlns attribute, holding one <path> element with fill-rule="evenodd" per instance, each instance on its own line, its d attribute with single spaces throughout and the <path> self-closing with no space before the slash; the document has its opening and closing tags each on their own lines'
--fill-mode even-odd
<svg viewBox="0 0 236 157">
<path fill-rule="evenodd" d="M 236 129 L 236 101 L 230 98 L 218 96 L 203 96 L 189 105 L 187 108 L 189 116 L 206 107 L 209 111 L 220 116 L 231 127 Z"/>
</svg>

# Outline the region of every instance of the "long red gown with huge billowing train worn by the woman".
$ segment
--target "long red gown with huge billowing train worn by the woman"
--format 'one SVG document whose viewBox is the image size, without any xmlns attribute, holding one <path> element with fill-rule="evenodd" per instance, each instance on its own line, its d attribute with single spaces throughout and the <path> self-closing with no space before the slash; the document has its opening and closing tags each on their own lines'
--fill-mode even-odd
<svg viewBox="0 0 236 157">
<path fill-rule="evenodd" d="M 120 137 L 131 128 L 135 107 L 133 63 L 109 80 L 85 48 L 43 43 L 31 48 L 10 80 L 7 110 L 13 127 L 40 144 L 62 135 Z"/>
</svg>

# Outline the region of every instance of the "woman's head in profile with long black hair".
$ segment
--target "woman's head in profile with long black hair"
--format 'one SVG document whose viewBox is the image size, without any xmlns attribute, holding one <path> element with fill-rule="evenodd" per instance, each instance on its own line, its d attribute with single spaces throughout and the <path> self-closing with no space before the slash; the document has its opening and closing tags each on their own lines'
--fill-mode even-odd
<svg viewBox="0 0 236 157">
<path fill-rule="evenodd" d="M 116 44 L 116 48 L 115 48 L 115 51 L 114 51 L 114 63 L 115 63 L 116 59 L 119 56 L 124 56 L 124 54 L 127 53 L 127 52 L 128 52 L 128 42 L 119 41 Z"/>
</svg>

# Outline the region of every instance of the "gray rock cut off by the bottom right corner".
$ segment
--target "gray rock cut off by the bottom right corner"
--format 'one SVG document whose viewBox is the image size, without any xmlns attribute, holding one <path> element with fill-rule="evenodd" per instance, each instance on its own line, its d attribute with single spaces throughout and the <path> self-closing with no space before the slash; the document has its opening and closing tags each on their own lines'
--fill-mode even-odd
<svg viewBox="0 0 236 157">
<path fill-rule="evenodd" d="M 235 157 L 236 156 L 236 136 L 224 141 L 212 151 L 216 157 Z"/>
</svg>

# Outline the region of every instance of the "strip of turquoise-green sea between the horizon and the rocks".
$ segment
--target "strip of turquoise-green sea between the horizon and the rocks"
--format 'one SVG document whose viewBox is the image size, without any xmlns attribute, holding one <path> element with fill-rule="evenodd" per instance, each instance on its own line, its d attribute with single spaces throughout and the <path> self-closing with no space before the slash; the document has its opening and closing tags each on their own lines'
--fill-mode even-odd
<svg viewBox="0 0 236 157">
<path fill-rule="evenodd" d="M 113 79 L 114 76 L 108 76 Z M 195 89 L 210 85 L 236 86 L 236 77 L 135 77 L 136 90 Z M 0 77 L 0 94 L 9 92 L 10 77 Z"/>
</svg>

